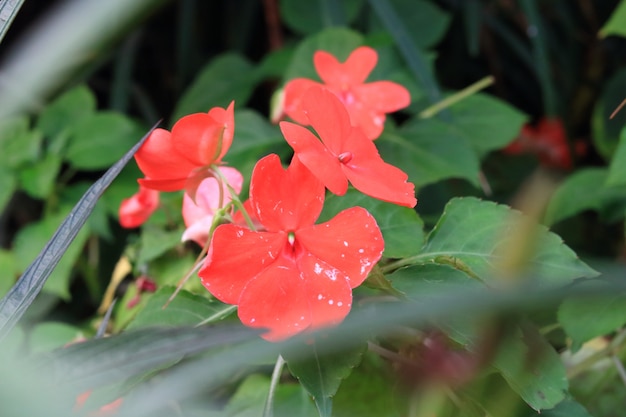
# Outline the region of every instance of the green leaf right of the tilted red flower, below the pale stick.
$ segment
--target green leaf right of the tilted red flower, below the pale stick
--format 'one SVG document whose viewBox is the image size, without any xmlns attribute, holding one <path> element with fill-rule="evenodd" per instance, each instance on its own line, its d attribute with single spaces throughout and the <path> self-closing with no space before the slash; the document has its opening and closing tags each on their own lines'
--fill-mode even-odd
<svg viewBox="0 0 626 417">
<path fill-rule="evenodd" d="M 479 160 L 467 137 L 436 119 L 409 122 L 376 140 L 383 159 L 406 172 L 416 188 L 464 178 L 478 185 Z"/>
</svg>

